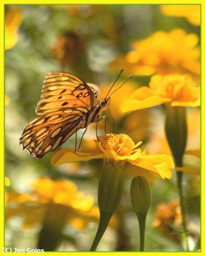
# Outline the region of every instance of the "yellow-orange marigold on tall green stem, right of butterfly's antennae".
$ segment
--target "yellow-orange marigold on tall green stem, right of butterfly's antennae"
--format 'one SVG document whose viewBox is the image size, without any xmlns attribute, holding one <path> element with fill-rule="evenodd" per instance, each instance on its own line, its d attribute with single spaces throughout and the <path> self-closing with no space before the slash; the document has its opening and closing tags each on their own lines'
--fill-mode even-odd
<svg viewBox="0 0 205 256">
<path fill-rule="evenodd" d="M 150 87 L 142 86 L 123 105 L 129 112 L 170 102 L 172 106 L 200 106 L 200 88 L 189 75 L 154 75 Z"/>
</svg>

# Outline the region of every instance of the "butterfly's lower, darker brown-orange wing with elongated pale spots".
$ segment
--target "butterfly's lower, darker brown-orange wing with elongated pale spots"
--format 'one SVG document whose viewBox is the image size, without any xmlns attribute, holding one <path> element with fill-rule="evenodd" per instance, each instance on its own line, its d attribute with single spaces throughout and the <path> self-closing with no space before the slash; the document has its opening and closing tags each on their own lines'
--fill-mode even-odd
<svg viewBox="0 0 205 256">
<path fill-rule="evenodd" d="M 82 113 L 76 115 L 76 111 L 70 114 L 54 112 L 35 118 L 25 126 L 20 144 L 33 157 L 42 158 L 79 130 L 83 124 L 82 118 Z"/>
</svg>

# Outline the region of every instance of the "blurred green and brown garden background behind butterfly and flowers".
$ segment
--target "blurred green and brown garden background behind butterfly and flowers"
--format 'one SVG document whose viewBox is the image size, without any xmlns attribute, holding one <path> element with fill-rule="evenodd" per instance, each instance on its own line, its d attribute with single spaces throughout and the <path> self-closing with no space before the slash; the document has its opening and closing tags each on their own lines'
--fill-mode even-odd
<svg viewBox="0 0 205 256">
<path fill-rule="evenodd" d="M 187 33 L 195 33 L 200 38 L 200 26 L 189 23 L 185 18 L 165 16 L 158 5 L 22 5 L 6 6 L 20 10 L 22 23 L 19 24 L 18 42 L 5 51 L 5 136 L 6 136 L 6 170 L 5 175 L 11 180 L 7 193 L 17 191 L 31 193 L 31 184 L 38 177 L 50 179 L 68 179 L 73 181 L 80 191 L 92 195 L 97 205 L 97 183 L 99 180 L 101 160 L 80 163 L 77 167 L 65 164 L 53 167 L 49 153 L 42 159 L 32 159 L 19 146 L 19 138 L 25 124 L 35 117 L 35 108 L 39 101 L 42 81 L 50 71 L 71 72 L 87 82 L 95 82 L 102 92 L 108 90 L 116 79 L 120 69 L 110 66 L 119 53 L 127 53 L 134 40 L 147 38 L 154 32 L 169 32 L 173 28 L 182 28 Z M 110 68 L 111 67 L 111 68 Z M 119 81 L 129 75 L 126 67 Z M 134 76 L 127 87 L 138 88 L 148 85 L 150 76 Z M 107 86 L 107 87 L 106 87 Z M 104 89 L 106 88 L 106 89 Z M 119 89 L 120 90 L 120 89 Z M 124 91 L 125 92 L 125 91 Z M 119 96 L 121 96 L 120 92 Z M 114 100 L 113 94 L 112 100 Z M 118 108 L 118 106 L 115 106 Z M 142 140 L 144 147 L 151 154 L 156 153 L 152 141 L 154 136 L 163 131 L 164 110 L 161 106 L 139 111 L 136 115 L 115 117 L 115 133 L 126 133 L 135 142 Z M 188 109 L 190 130 L 188 145 L 191 149 L 200 148 L 200 109 Z M 129 121 L 127 118 L 131 118 Z M 138 125 L 129 129 L 123 123 L 129 121 Z M 112 132 L 112 119 L 108 115 L 108 128 Z M 101 127 L 103 134 L 103 127 Z M 82 133 L 81 133 L 82 134 Z M 80 139 L 80 133 L 78 135 Z M 88 128 L 83 147 L 89 147 L 89 140 L 95 139 L 95 126 Z M 149 144 L 151 143 L 152 144 Z M 63 144 L 63 147 L 74 147 L 75 137 Z M 157 147 L 157 145 L 156 145 Z M 187 157 L 187 163 L 199 166 L 200 160 Z M 98 247 L 101 251 L 139 249 L 139 229 L 136 216 L 131 209 L 129 187 L 132 175 L 127 174 L 125 192 L 116 218 L 118 228 L 109 227 Z M 185 174 L 185 195 L 187 215 L 190 228 L 190 245 L 192 250 L 200 249 L 200 176 Z M 181 251 L 183 247 L 174 226 L 173 216 L 170 221 L 170 233 L 161 233 L 153 227 L 156 207 L 160 203 L 169 203 L 178 199 L 175 175 L 172 180 L 155 179 L 151 182 L 151 208 L 147 217 L 146 251 Z M 9 208 L 9 205 L 7 205 Z M 31 213 L 32 215 L 32 209 Z M 55 225 L 55 223 L 53 224 Z M 165 223 L 166 225 L 166 223 Z M 16 214 L 6 221 L 6 246 L 27 248 L 37 246 L 42 223 L 30 229 L 23 228 L 23 217 Z M 83 230 L 65 225 L 58 245 L 53 250 L 86 251 L 92 243 L 97 229 L 97 222 L 89 222 Z M 173 238 L 175 237 L 175 238 Z M 42 239 L 42 238 L 41 238 Z M 43 239 L 42 239 L 43 240 Z M 46 238 L 45 238 L 46 240 Z M 44 241 L 42 241 L 43 243 Z"/>
</svg>

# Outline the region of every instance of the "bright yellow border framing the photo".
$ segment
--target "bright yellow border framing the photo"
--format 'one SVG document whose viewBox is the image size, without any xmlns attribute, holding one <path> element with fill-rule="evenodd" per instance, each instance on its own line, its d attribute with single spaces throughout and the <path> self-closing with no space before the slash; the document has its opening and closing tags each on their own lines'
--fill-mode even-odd
<svg viewBox="0 0 205 256">
<path fill-rule="evenodd" d="M 4 200 L 4 187 L 5 187 L 5 170 L 6 170 L 6 166 L 5 166 L 5 95 L 4 95 L 4 84 L 5 84 L 5 79 L 4 79 L 4 8 L 5 5 L 38 5 L 38 4 L 57 4 L 57 5 L 66 5 L 66 4 L 74 4 L 74 5 L 85 5 L 85 4 L 101 4 L 101 5 L 117 5 L 117 4 L 124 4 L 124 5 L 131 5 L 131 4 L 138 4 L 138 5 L 162 5 L 162 4 L 193 4 L 193 5 L 201 5 L 201 27 L 200 27 L 200 40 L 201 40 L 201 49 L 202 49 L 202 57 L 201 57 L 201 71 L 203 71 L 204 69 L 204 60 L 205 60 L 205 55 L 204 55 L 204 51 L 203 49 L 205 48 L 205 43 L 204 43 L 204 13 L 205 13 L 205 2 L 202 0 L 199 1 L 156 1 L 156 0 L 150 0 L 150 1 L 137 1 L 137 0 L 118 0 L 118 1 L 110 1 L 110 0 L 80 0 L 80 1 L 65 1 L 65 0 L 60 0 L 60 1 L 56 1 L 56 0 L 44 0 L 44 1 L 40 1 L 40 0 L 33 0 L 33 1 L 25 1 L 25 0 L 2 0 L 0 3 L 0 14 L 1 14 L 1 24 L 0 24 L 0 28 L 1 28 L 1 39 L 0 39 L 0 55 L 1 55 L 1 68 L 0 68 L 0 77 L 1 77 L 1 86 L 0 86 L 0 93 L 1 93 L 1 104 L 0 104 L 0 113 L 1 113 L 1 137 L 0 137 L 0 142 L 1 142 L 1 154 L 0 154 L 0 163 L 1 163 L 1 179 L 0 179 L 0 195 L 1 195 L 1 212 L 0 212 L 0 255 L 3 255 L 5 253 L 3 253 L 3 248 L 4 248 L 4 243 L 5 243 L 5 232 L 4 232 L 4 226 L 5 226 L 5 221 L 4 221 L 4 205 L 5 205 L 5 200 Z M 204 88 L 203 88 L 203 81 L 204 81 L 204 73 L 201 72 L 201 100 L 204 99 Z M 205 174 L 203 173 L 203 167 L 204 167 L 204 159 L 203 159 L 203 152 L 204 152 L 204 129 L 205 129 L 205 123 L 204 123 L 204 118 L 203 118 L 203 112 L 204 112 L 204 104 L 203 101 L 201 101 L 201 156 L 202 156 L 202 160 L 201 160 L 201 188 L 202 188 L 202 192 L 201 192 L 201 251 L 196 251 L 196 252 L 186 252 L 186 251 L 182 251 L 182 252 L 142 252 L 144 256 L 148 256 L 150 254 L 174 254 L 176 256 L 178 255 L 205 255 L 204 253 L 204 228 L 205 228 L 205 224 L 204 224 L 204 214 L 205 214 L 205 210 L 204 210 L 204 191 L 205 189 L 203 188 L 203 184 L 205 182 Z M 86 254 L 86 255 L 97 255 L 97 256 L 109 256 L 114 254 L 120 254 L 120 255 L 127 255 L 129 254 L 129 256 L 134 256 L 136 254 L 139 254 L 139 251 L 125 251 L 125 252 L 45 252 L 46 255 L 58 255 L 59 253 L 61 254 L 69 254 L 69 256 L 80 256 L 82 254 Z M 11 253 L 14 254 L 14 253 Z M 19 254 L 31 254 L 31 253 L 18 253 Z M 32 253 L 33 254 L 33 253 Z M 35 253 L 35 254 L 39 254 L 39 253 Z"/>
</svg>

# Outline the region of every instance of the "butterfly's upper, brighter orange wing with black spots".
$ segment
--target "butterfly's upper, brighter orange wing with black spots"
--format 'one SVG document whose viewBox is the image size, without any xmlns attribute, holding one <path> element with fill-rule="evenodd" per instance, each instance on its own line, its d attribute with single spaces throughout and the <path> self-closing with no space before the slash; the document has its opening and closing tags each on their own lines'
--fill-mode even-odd
<svg viewBox="0 0 205 256">
<path fill-rule="evenodd" d="M 95 104 L 92 89 L 78 77 L 65 72 L 52 72 L 45 77 L 36 114 L 58 109 L 82 107 L 90 110 Z"/>
</svg>

